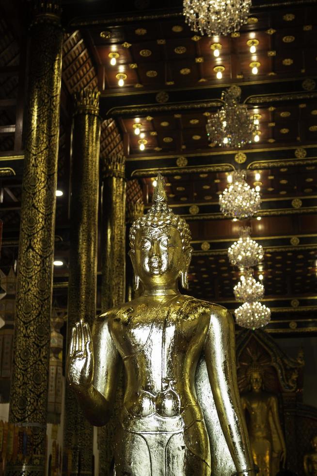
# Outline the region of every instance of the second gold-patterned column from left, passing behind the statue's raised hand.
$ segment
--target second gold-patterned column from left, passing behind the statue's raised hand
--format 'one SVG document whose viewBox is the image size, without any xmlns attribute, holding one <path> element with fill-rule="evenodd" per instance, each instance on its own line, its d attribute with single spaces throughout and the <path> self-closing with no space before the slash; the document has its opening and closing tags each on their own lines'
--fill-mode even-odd
<svg viewBox="0 0 317 476">
<path fill-rule="evenodd" d="M 96 313 L 99 148 L 99 92 L 86 89 L 75 96 L 67 348 L 74 324 L 83 319 L 91 326 Z M 68 387 L 65 394 L 64 457 L 64 468 L 67 466 L 71 475 L 93 474 L 93 426 L 84 418 L 74 393 Z"/>
</svg>

